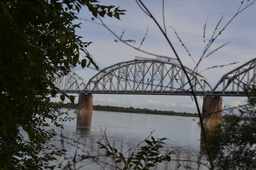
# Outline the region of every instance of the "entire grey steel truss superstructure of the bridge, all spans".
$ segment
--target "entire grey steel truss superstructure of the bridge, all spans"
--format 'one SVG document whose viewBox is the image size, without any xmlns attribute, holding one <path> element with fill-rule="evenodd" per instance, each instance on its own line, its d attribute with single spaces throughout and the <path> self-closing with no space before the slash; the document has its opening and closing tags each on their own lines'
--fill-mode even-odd
<svg viewBox="0 0 256 170">
<path fill-rule="evenodd" d="M 211 86 L 201 74 L 185 67 L 196 96 L 246 96 L 256 83 L 256 58 L 224 74 Z M 95 74 L 88 83 L 76 73 L 54 81 L 60 92 L 73 94 L 145 94 L 191 96 L 191 87 L 177 60 L 157 57 L 119 62 Z"/>
</svg>

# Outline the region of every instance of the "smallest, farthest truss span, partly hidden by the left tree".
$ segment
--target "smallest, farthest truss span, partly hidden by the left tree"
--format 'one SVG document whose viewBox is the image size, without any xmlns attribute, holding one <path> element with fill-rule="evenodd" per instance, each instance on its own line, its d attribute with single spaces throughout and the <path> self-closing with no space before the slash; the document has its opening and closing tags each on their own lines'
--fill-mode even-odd
<svg viewBox="0 0 256 170">
<path fill-rule="evenodd" d="M 65 93 L 80 93 L 86 87 L 84 80 L 74 72 L 69 72 L 61 77 L 56 76 L 54 85 Z"/>
</svg>

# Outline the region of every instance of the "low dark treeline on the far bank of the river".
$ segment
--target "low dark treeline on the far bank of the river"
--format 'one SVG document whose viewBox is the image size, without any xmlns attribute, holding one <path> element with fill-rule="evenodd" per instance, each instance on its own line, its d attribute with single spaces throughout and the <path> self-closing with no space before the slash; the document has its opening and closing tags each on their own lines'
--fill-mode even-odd
<svg viewBox="0 0 256 170">
<path fill-rule="evenodd" d="M 67 109 L 77 109 L 78 104 L 74 103 L 51 103 L 52 106 L 58 106 L 60 108 Z M 116 106 L 100 106 L 93 105 L 93 110 L 100 111 L 116 111 L 116 112 L 127 112 L 127 113 L 147 113 L 154 115 L 171 115 L 171 116 L 182 116 L 182 117 L 198 117 L 196 113 L 186 113 L 186 112 L 175 112 L 175 111 L 162 111 L 162 110 L 148 110 L 148 109 L 140 109 L 140 108 L 124 108 L 124 107 L 116 107 Z"/>
</svg>

